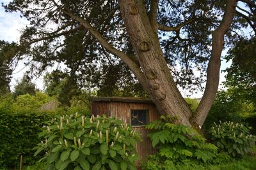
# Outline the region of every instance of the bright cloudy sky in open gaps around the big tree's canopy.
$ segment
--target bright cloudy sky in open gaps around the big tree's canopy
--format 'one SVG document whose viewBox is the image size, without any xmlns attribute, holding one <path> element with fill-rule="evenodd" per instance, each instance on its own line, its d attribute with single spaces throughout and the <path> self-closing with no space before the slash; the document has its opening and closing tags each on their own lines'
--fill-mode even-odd
<svg viewBox="0 0 256 170">
<path fill-rule="evenodd" d="M 10 2 L 9 0 L 0 0 L 0 3 L 7 4 Z M 28 20 L 25 18 L 20 18 L 19 13 L 6 13 L 4 12 L 4 8 L 0 6 L 0 39 L 8 42 L 18 42 L 19 36 L 20 36 L 20 30 L 22 27 L 26 27 L 26 25 L 29 25 Z M 223 55 L 225 55 L 225 52 L 223 52 Z M 225 61 L 221 62 L 221 70 L 226 69 L 230 66 L 230 62 L 226 63 Z M 25 73 L 26 68 L 24 68 L 24 65 L 22 63 L 17 66 L 17 68 L 13 71 L 12 75 L 12 81 L 10 83 L 11 90 L 13 90 L 14 85 L 17 83 L 17 80 L 20 80 Z M 36 88 L 43 89 L 43 77 L 36 78 L 32 80 L 33 83 L 36 84 Z M 220 89 L 223 88 L 221 86 L 221 82 L 225 81 L 225 73 L 220 73 Z M 188 95 L 188 92 L 186 90 L 181 90 L 182 95 L 186 96 Z M 204 92 L 198 92 L 197 94 L 190 94 L 193 98 L 200 98 L 202 97 Z"/>
</svg>

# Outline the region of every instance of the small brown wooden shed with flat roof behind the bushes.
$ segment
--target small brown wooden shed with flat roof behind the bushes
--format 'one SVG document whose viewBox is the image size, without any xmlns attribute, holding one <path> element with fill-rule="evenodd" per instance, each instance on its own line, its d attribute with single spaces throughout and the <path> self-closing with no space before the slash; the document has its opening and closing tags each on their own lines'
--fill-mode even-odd
<svg viewBox="0 0 256 170">
<path fill-rule="evenodd" d="M 90 97 L 93 115 L 105 114 L 126 120 L 133 129 L 140 132 L 143 142 L 137 143 L 136 150 L 141 158 L 156 153 L 148 139 L 145 125 L 160 117 L 155 104 L 150 99 L 139 97 Z"/>
</svg>

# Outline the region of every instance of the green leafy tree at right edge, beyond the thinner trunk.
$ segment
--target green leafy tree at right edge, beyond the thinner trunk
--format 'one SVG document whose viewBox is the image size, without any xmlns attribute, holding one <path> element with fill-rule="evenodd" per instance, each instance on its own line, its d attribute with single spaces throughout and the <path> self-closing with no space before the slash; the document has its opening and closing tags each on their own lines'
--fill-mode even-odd
<svg viewBox="0 0 256 170">
<path fill-rule="evenodd" d="M 226 87 L 234 89 L 233 96 L 256 106 L 256 38 L 237 41 L 225 59 L 232 61 L 232 65 L 225 70 Z"/>
</svg>

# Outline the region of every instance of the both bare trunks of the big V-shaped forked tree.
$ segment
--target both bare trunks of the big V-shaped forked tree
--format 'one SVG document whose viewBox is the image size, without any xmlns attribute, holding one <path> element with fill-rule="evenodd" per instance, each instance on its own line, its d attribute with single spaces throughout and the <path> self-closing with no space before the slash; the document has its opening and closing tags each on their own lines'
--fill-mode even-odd
<svg viewBox="0 0 256 170">
<path fill-rule="evenodd" d="M 163 57 L 157 38 L 157 31 L 147 17 L 143 1 L 120 0 L 120 10 L 136 56 L 143 71 L 143 79 L 138 78 L 161 114 L 177 117 L 177 124 L 197 127 L 204 124 L 218 89 L 220 57 L 225 32 L 234 18 L 236 0 L 227 0 L 223 20 L 212 34 L 212 54 L 207 71 L 207 85 L 204 97 L 195 115 L 177 89 L 170 70 Z"/>
</svg>

